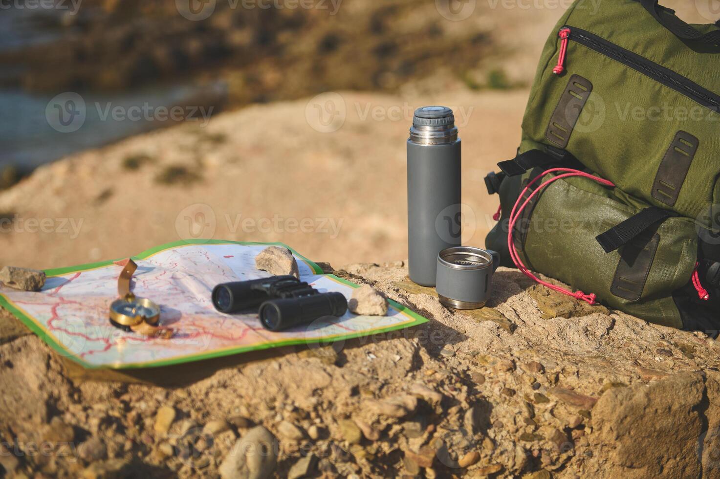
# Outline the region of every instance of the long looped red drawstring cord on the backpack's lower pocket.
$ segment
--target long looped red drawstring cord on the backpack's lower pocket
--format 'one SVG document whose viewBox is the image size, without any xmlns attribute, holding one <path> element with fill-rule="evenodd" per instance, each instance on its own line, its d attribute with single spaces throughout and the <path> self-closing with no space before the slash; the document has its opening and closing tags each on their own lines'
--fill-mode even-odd
<svg viewBox="0 0 720 479">
<path fill-rule="evenodd" d="M 520 207 L 518 207 L 518 205 L 520 204 L 521 200 L 523 199 L 523 196 L 526 194 L 526 192 L 528 191 L 528 189 L 529 189 L 533 184 L 535 184 L 539 179 L 541 179 L 543 176 L 545 176 L 546 174 L 549 174 L 549 173 L 553 173 L 554 171 L 565 171 L 565 173 L 564 173 L 564 174 L 559 174 L 558 176 L 553 176 L 551 179 L 549 179 L 549 180 L 547 180 L 546 182 L 540 184 L 539 187 L 537 187 L 537 188 L 534 190 L 534 192 L 532 192 L 532 193 L 528 196 L 527 200 L 525 200 L 525 202 L 523 202 L 523 204 L 522 204 Z M 557 181 L 558 179 L 567 178 L 568 176 L 583 176 L 583 177 L 588 178 L 588 179 L 593 179 L 593 180 L 595 180 L 596 182 L 598 182 L 598 183 L 600 183 L 600 184 L 604 184 L 604 185 L 606 185 L 606 186 L 608 186 L 608 187 L 614 187 L 614 186 L 615 186 L 615 184 L 613 184 L 612 182 L 609 182 L 609 181 L 606 180 L 606 179 L 600 178 L 600 177 L 598 177 L 598 176 L 593 176 L 593 175 L 591 175 L 591 174 L 589 174 L 589 173 L 585 173 L 585 172 L 583 172 L 583 171 L 578 171 L 578 170 L 575 170 L 575 169 L 570 169 L 570 168 L 552 168 L 552 169 L 549 169 L 549 170 L 544 171 L 543 173 L 541 173 L 541 174 L 539 174 L 538 176 L 536 176 L 534 179 L 532 179 L 531 182 L 529 182 L 529 183 L 527 184 L 527 186 L 523 189 L 523 191 L 522 191 L 522 192 L 520 193 L 520 195 L 518 196 L 518 200 L 515 202 L 515 205 L 513 206 L 512 212 L 510 212 L 510 224 L 508 225 L 508 249 L 510 250 L 510 257 L 511 257 L 511 259 L 513 259 L 513 263 L 515 264 L 515 266 L 518 267 L 518 269 L 520 269 L 520 271 L 523 272 L 523 274 L 525 274 L 527 277 L 529 277 L 529 278 L 531 278 L 531 279 L 534 279 L 534 280 L 535 280 L 536 282 L 538 282 L 539 284 L 541 284 L 541 285 L 543 285 L 543 286 L 545 286 L 545 287 L 548 287 L 548 288 L 550 288 L 551 290 L 554 290 L 554 291 L 557 291 L 557 292 L 561 292 L 561 293 L 564 294 L 564 295 L 572 296 L 572 297 L 574 297 L 574 298 L 577 299 L 577 300 L 583 300 L 583 301 L 587 302 L 587 303 L 590 304 L 590 305 L 594 305 L 594 304 L 595 304 L 595 294 L 594 294 L 594 293 L 590 293 L 589 295 L 586 295 L 586 294 L 585 294 L 584 292 L 582 292 L 582 291 L 572 292 L 572 291 L 570 291 L 570 290 L 566 290 L 564 287 L 559 287 L 559 286 L 556 286 L 556 285 L 552 285 L 552 284 L 549 283 L 549 282 L 543 281 L 542 279 L 539 279 L 539 277 L 536 277 L 534 274 L 532 274 L 532 273 L 530 272 L 530 270 L 525 266 L 525 264 L 523 264 L 523 261 L 520 259 L 520 256 L 518 255 L 518 251 L 515 249 L 515 243 L 513 242 L 513 228 L 515 227 L 515 223 L 517 222 L 518 218 L 520 217 L 521 213 L 523 212 L 523 210 L 525 209 L 525 207 L 528 205 L 528 203 L 530 202 L 530 200 L 532 200 L 532 198 L 533 198 L 536 194 L 538 194 L 538 193 L 540 192 L 540 190 L 543 189 L 544 187 L 546 187 L 547 185 L 551 184 L 552 182 Z"/>
</svg>

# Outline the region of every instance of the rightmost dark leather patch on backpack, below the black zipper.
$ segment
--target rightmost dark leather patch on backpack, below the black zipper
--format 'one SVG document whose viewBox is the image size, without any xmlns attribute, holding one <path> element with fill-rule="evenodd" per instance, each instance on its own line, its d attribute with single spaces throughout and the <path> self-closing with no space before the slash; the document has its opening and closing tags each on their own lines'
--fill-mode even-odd
<svg viewBox="0 0 720 479">
<path fill-rule="evenodd" d="M 678 131 L 657 169 L 652 185 L 652 197 L 655 200 L 667 206 L 675 205 L 699 145 L 698 138 L 686 131 Z"/>
</svg>

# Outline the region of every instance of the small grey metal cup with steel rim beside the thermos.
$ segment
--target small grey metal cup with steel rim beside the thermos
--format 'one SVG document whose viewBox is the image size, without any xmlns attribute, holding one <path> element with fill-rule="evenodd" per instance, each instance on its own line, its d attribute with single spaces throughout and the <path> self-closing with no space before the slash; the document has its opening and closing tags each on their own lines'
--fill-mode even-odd
<svg viewBox="0 0 720 479">
<path fill-rule="evenodd" d="M 499 264 L 500 254 L 487 249 L 453 246 L 440 251 L 435 286 L 440 303 L 454 309 L 482 308 Z"/>
</svg>

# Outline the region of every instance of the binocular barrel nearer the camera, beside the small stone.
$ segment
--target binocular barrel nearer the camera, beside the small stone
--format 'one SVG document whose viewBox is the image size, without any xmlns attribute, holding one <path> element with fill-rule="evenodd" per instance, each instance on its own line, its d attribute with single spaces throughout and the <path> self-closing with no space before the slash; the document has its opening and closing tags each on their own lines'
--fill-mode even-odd
<svg viewBox="0 0 720 479">
<path fill-rule="evenodd" d="M 348 310 L 348 300 L 341 292 L 325 292 L 307 297 L 269 300 L 260 305 L 258 315 L 270 331 L 283 331 L 300 324 L 312 323 L 323 316 L 341 316 Z"/>
</svg>

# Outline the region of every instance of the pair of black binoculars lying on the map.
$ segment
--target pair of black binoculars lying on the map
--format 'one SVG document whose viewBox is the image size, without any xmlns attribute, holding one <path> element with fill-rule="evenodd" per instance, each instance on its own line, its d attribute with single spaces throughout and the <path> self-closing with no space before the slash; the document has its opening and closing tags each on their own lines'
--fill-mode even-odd
<svg viewBox="0 0 720 479">
<path fill-rule="evenodd" d="M 294 276 L 274 276 L 222 283 L 212 290 L 212 304 L 221 313 L 258 308 L 264 328 L 283 331 L 323 316 L 341 316 L 348 301 L 340 292 L 318 292 Z"/>
</svg>

